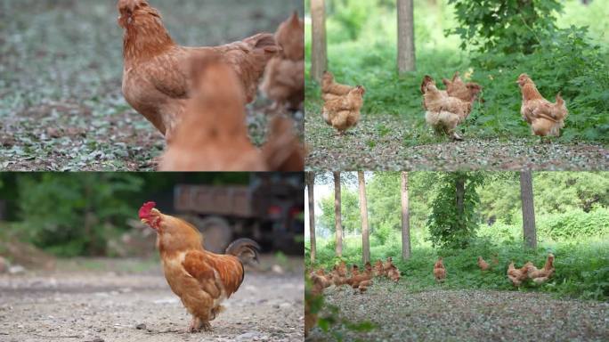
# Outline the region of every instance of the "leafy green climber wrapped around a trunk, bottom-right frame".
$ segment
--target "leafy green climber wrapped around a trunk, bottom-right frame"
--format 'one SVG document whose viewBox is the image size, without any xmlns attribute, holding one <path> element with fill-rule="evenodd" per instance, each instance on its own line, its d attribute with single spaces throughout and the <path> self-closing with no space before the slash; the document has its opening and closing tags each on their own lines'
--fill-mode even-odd
<svg viewBox="0 0 609 342">
<path fill-rule="evenodd" d="M 427 221 L 430 240 L 436 247 L 466 248 L 478 226 L 475 208 L 480 202 L 476 187 L 483 183 L 481 173 L 445 173 L 440 175 L 439 190 Z M 463 208 L 459 208 L 456 184 L 464 184 Z"/>
</svg>

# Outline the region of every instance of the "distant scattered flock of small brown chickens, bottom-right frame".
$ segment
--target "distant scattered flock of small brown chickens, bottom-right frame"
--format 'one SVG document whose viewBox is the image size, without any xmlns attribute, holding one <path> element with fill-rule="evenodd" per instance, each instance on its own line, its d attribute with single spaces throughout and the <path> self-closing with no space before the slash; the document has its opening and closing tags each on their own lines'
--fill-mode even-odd
<svg viewBox="0 0 609 342">
<path fill-rule="evenodd" d="M 497 256 L 493 256 L 491 263 L 493 265 L 499 265 Z M 482 256 L 478 256 L 478 266 L 482 272 L 489 271 L 491 265 L 487 263 Z M 508 280 L 512 282 L 515 287 L 522 285 L 524 281 L 531 280 L 536 284 L 541 284 L 548 281 L 549 278 L 554 275 L 554 255 L 548 254 L 546 264 L 541 269 L 535 267 L 532 262 L 527 262 L 522 268 L 515 268 L 514 262 L 508 265 Z M 435 281 L 442 282 L 446 279 L 446 267 L 444 267 L 443 258 L 439 256 L 437 261 L 434 263 L 434 278 Z M 345 261 L 341 261 L 338 265 L 332 267 L 332 271 L 326 273 L 323 268 L 308 273 L 309 279 L 311 280 L 311 295 L 322 296 L 323 291 L 329 288 L 331 285 L 335 287 L 341 287 L 343 285 L 351 286 L 357 293 L 368 290 L 369 286 L 372 285 L 373 277 L 387 277 L 392 281 L 400 281 L 400 270 L 394 265 L 392 257 L 387 257 L 385 263 L 378 260 L 374 265 L 370 265 L 369 262 L 364 265 L 364 272 L 360 273 L 359 267 L 353 265 L 351 268 L 351 276 L 347 274 L 347 267 Z M 310 304 L 305 300 L 305 336 L 308 335 L 308 331 L 313 328 L 317 322 L 317 314 L 311 312 Z"/>
</svg>

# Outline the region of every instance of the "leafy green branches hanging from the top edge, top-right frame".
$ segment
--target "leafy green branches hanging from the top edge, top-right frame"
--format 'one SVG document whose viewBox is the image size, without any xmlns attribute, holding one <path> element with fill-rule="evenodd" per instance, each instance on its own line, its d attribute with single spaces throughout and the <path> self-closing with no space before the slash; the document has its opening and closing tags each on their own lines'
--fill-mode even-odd
<svg viewBox="0 0 609 342">
<path fill-rule="evenodd" d="M 558 0 L 449 0 L 455 5 L 461 49 L 475 46 L 482 53 L 532 53 L 534 45 L 556 28 Z"/>
</svg>

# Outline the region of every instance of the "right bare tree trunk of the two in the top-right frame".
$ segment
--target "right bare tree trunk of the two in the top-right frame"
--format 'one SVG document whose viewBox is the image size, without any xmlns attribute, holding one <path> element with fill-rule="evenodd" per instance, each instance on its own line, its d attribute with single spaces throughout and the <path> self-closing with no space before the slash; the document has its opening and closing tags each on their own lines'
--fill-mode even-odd
<svg viewBox="0 0 609 342">
<path fill-rule="evenodd" d="M 397 0 L 398 6 L 398 72 L 414 71 L 414 5 L 413 0 Z"/>
</svg>

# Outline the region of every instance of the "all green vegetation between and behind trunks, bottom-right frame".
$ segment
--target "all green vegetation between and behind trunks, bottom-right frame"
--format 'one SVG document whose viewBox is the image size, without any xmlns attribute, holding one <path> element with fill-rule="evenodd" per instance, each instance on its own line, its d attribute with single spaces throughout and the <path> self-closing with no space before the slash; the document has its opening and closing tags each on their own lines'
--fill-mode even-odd
<svg viewBox="0 0 609 342">
<path fill-rule="evenodd" d="M 399 173 L 367 173 L 370 255 L 373 261 L 394 256 L 404 277 L 400 286 L 421 290 L 436 286 L 431 272 L 437 256 L 450 274 L 443 285 L 462 289 L 511 289 L 506 270 L 510 261 L 531 260 L 541 266 L 549 252 L 556 255 L 556 277 L 541 287 L 524 290 L 606 300 L 609 298 L 609 173 L 533 173 L 538 248 L 523 246 L 523 216 L 519 176 L 514 172 L 468 172 L 466 189 L 475 193 L 466 211 L 472 229 L 466 236 L 444 237 L 434 229 L 450 217 L 438 207 L 454 207 L 454 173 L 409 173 L 412 256 L 401 260 L 402 207 Z M 318 178 L 324 179 L 323 176 Z M 331 176 L 326 175 L 326 179 Z M 361 216 L 358 189 L 345 174 L 341 189 L 343 258 L 361 265 Z M 318 184 L 318 186 L 321 186 Z M 324 186 L 332 187 L 327 184 Z M 450 203 L 443 196 L 450 192 Z M 334 236 L 334 193 L 316 198 L 317 263 L 337 261 Z M 438 238 L 440 237 L 440 238 Z M 465 241 L 464 241 L 465 240 Z M 305 242 L 310 263 L 309 240 Z M 476 257 L 487 261 L 498 254 L 499 265 L 481 274 Z M 490 261 L 489 261 L 490 262 Z"/>
</svg>

